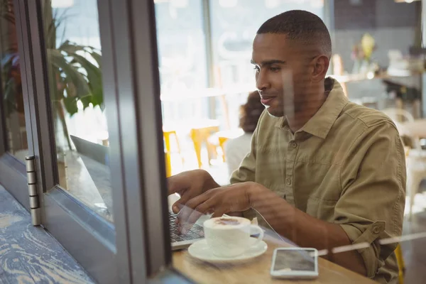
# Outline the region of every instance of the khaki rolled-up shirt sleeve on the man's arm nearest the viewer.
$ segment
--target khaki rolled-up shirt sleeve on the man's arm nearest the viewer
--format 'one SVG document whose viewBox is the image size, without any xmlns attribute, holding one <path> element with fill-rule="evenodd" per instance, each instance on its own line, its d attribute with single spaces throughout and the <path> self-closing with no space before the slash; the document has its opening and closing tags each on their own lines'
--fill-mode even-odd
<svg viewBox="0 0 426 284">
<path fill-rule="evenodd" d="M 380 240 L 400 236 L 403 227 L 405 154 L 393 123 L 366 126 L 343 160 L 334 223 L 360 245 L 367 275 L 373 278 L 398 245 Z"/>
</svg>

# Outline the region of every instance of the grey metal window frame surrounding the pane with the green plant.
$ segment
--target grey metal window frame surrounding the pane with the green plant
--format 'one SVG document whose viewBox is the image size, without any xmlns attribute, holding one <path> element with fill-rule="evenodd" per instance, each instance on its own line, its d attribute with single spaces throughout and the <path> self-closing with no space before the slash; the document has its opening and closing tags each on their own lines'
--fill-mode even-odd
<svg viewBox="0 0 426 284">
<path fill-rule="evenodd" d="M 21 69 L 25 72 L 24 104 L 27 129 L 31 130 L 28 143 L 31 142 L 32 148 L 28 155 L 35 156 L 42 226 L 96 282 L 173 280 L 189 283 L 187 278 L 169 269 L 171 249 L 165 220 L 168 216 L 167 192 L 144 190 L 150 186 L 166 188 L 164 159 L 160 158 L 163 155 L 160 97 L 151 95 L 155 91 L 159 94 L 160 88 L 153 1 L 97 1 L 104 103 L 108 109 L 114 225 L 57 185 L 43 37 L 42 11 L 46 3 L 46 0 L 14 0 L 21 31 L 19 52 L 25 63 Z M 144 28 L 136 33 L 134 27 L 140 25 Z M 150 66 L 148 72 L 146 62 Z M 0 126 L 1 130 L 4 129 Z M 18 200 L 29 209 L 25 165 L 20 163 L 18 168 L 23 176 L 20 192 L 25 192 Z M 10 180 L 1 175 L 0 178 Z M 8 185 L 6 188 L 11 189 Z"/>
</svg>

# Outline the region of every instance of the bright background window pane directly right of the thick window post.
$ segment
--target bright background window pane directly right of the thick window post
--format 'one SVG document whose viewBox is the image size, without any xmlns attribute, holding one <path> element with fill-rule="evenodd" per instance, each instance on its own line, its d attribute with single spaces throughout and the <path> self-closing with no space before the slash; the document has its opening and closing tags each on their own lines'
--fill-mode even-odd
<svg viewBox="0 0 426 284">
<path fill-rule="evenodd" d="M 155 16 L 162 92 L 206 87 L 202 1 L 155 1 Z"/>
</svg>

